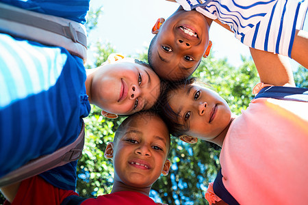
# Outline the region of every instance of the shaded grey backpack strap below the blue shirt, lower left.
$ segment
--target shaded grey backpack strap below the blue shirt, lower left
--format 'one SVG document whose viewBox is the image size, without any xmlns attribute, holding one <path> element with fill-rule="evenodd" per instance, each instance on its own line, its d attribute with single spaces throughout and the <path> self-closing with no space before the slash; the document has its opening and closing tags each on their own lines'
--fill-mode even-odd
<svg viewBox="0 0 308 205">
<path fill-rule="evenodd" d="M 22 167 L 1 177 L 0 187 L 20 182 L 21 180 L 36 176 L 54 167 L 65 165 L 70 161 L 76 161 L 81 157 L 82 150 L 84 149 L 84 136 L 84 122 L 82 122 L 81 131 L 75 141 L 51 154 L 31 160 Z"/>
</svg>

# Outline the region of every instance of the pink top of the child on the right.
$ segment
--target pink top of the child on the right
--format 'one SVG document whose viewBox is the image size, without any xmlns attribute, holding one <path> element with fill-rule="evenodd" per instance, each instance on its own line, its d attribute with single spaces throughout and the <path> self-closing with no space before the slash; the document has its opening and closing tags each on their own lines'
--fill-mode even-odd
<svg viewBox="0 0 308 205">
<path fill-rule="evenodd" d="M 220 164 L 240 204 L 307 204 L 308 103 L 252 100 L 231 124 Z"/>
</svg>

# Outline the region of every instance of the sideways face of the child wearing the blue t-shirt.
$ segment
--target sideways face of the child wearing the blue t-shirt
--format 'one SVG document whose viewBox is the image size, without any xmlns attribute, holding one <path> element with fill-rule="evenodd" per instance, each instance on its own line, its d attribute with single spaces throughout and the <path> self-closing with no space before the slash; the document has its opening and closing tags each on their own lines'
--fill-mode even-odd
<svg viewBox="0 0 308 205">
<path fill-rule="evenodd" d="M 129 115 L 151 108 L 160 93 L 159 77 L 133 61 L 107 64 L 92 81 L 92 101 L 108 113 Z"/>
</svg>

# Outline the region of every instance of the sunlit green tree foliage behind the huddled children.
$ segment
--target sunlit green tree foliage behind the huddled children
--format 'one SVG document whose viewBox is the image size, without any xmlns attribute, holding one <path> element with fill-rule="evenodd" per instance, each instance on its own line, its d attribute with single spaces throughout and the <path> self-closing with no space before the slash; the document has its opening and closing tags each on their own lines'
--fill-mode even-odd
<svg viewBox="0 0 308 205">
<path fill-rule="evenodd" d="M 96 27 L 100 12 L 101 10 L 97 10 L 89 13 L 86 25 L 88 32 Z M 97 42 L 91 46 L 97 47 L 95 66 L 106 61 L 110 53 L 116 53 L 108 43 Z M 147 61 L 146 52 L 147 49 L 144 48 L 143 53 L 134 57 Z M 209 83 L 213 90 L 227 100 L 231 111 L 237 115 L 242 109 L 246 109 L 253 98 L 253 87 L 259 82 L 253 61 L 245 57 L 242 57 L 242 65 L 235 68 L 228 64 L 227 59 L 210 55 L 201 62 L 193 75 L 200 81 Z M 294 72 L 294 79 L 298 87 L 308 87 L 308 70 L 298 68 Z M 86 142 L 77 168 L 77 192 L 82 197 L 96 197 L 112 190 L 114 169 L 112 161 L 105 159 L 103 152 L 123 120 L 124 118 L 103 118 L 101 110 L 95 106 L 92 106 L 90 115 L 85 118 Z M 220 152 L 209 148 L 209 144 L 204 141 L 188 145 L 175 137 L 172 137 L 170 149 L 170 173 L 168 176 L 161 176 L 153 184 L 150 196 L 155 202 L 167 204 L 207 204 L 204 193 L 220 168 Z M 0 194 L 0 202 L 3 199 Z"/>
</svg>

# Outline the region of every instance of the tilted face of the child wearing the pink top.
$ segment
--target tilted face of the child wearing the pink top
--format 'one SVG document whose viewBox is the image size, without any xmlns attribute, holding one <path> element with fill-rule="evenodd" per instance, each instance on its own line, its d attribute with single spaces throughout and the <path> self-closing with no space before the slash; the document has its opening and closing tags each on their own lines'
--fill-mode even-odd
<svg viewBox="0 0 308 205">
<path fill-rule="evenodd" d="M 185 135 L 211 141 L 231 120 L 227 102 L 205 87 L 186 85 L 171 92 L 168 99 L 171 109 L 179 113 L 177 122 L 189 128 Z"/>
</svg>

